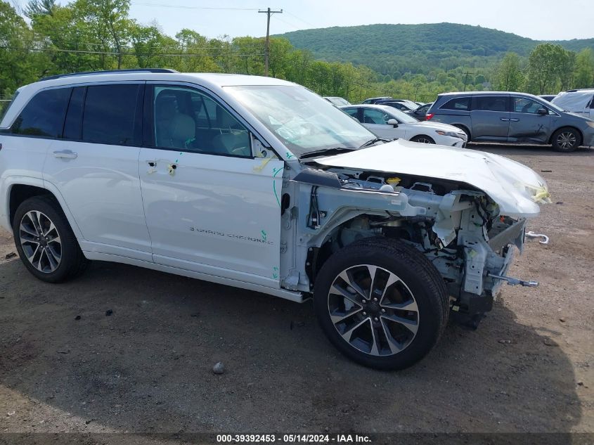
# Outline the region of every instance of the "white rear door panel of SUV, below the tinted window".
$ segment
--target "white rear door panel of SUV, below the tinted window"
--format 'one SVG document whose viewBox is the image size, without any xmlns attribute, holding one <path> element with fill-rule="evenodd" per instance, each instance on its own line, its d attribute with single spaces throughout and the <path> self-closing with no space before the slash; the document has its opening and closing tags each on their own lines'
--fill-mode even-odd
<svg viewBox="0 0 594 445">
<path fill-rule="evenodd" d="M 77 157 L 54 157 L 54 151 L 63 150 Z M 60 191 L 87 243 L 117 246 L 122 255 L 146 258 L 150 238 L 138 179 L 139 153 L 138 147 L 51 141 L 44 179 Z"/>
</svg>

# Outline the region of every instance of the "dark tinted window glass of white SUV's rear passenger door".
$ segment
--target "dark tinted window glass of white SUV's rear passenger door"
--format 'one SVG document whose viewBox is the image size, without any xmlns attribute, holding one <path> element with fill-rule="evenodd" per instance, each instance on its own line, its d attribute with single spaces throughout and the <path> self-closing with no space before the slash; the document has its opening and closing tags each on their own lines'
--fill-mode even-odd
<svg viewBox="0 0 594 445">
<path fill-rule="evenodd" d="M 87 87 L 82 120 L 82 140 L 110 145 L 137 145 L 141 116 L 137 115 L 138 84 Z M 141 114 L 141 113 L 138 113 Z"/>
</svg>

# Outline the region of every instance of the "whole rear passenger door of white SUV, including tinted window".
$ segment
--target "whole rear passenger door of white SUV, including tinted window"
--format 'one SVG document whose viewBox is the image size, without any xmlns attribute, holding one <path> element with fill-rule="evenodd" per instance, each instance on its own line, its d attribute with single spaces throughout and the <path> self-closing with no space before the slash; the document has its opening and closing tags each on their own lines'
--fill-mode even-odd
<svg viewBox="0 0 594 445">
<path fill-rule="evenodd" d="M 63 138 L 51 142 L 44 180 L 75 217 L 82 250 L 152 261 L 138 155 L 144 82 L 72 89 Z"/>
</svg>

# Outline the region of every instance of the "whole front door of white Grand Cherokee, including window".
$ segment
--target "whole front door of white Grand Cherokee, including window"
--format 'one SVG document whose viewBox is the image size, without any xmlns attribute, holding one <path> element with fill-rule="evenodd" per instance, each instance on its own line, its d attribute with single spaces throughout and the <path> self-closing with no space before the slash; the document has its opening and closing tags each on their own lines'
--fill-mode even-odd
<svg viewBox="0 0 594 445">
<path fill-rule="evenodd" d="M 154 261 L 279 288 L 284 163 L 203 91 L 150 85 L 145 105 L 152 148 L 139 169 Z"/>
</svg>

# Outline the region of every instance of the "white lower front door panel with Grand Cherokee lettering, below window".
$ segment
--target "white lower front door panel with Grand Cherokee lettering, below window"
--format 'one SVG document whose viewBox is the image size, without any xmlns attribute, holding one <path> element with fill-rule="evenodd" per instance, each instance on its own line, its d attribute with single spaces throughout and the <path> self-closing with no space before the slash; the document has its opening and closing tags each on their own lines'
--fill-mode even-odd
<svg viewBox="0 0 594 445">
<path fill-rule="evenodd" d="M 155 263 L 280 288 L 282 161 L 142 148 L 139 169 Z"/>
</svg>

